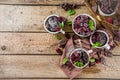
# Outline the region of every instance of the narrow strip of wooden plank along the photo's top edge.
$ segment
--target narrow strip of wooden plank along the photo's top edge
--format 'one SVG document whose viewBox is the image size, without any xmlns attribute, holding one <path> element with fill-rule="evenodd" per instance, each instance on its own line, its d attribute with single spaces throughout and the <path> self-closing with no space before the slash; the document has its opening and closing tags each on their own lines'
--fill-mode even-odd
<svg viewBox="0 0 120 80">
<path fill-rule="evenodd" d="M 61 4 L 64 2 L 81 4 L 84 0 L 0 0 L 0 4 Z"/>
</svg>

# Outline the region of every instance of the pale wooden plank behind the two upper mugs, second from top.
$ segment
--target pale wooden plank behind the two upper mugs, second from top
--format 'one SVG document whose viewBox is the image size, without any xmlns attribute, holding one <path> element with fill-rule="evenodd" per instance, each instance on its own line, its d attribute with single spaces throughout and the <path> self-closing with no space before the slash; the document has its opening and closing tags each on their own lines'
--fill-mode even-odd
<svg viewBox="0 0 120 80">
<path fill-rule="evenodd" d="M 81 7 L 76 12 L 76 15 L 82 13 L 90 14 L 86 7 Z M 49 6 L 48 8 L 48 6 L 0 5 L 0 31 L 46 32 L 43 22 L 51 14 L 61 15 L 71 21 L 76 16 L 69 16 L 67 12 L 57 6 Z M 71 27 L 66 26 L 66 31 L 69 32 L 71 30 Z"/>
</svg>

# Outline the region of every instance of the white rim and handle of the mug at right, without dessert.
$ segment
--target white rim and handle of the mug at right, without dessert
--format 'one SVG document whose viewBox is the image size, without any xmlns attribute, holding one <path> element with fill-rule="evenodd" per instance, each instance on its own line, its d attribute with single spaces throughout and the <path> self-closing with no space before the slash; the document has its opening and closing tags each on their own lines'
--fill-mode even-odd
<svg viewBox="0 0 120 80">
<path fill-rule="evenodd" d="M 109 49 L 110 49 L 110 45 L 108 44 L 108 43 L 109 43 L 109 36 L 108 36 L 108 34 L 107 34 L 105 31 L 103 31 L 103 30 L 97 30 L 96 32 L 104 33 L 104 34 L 106 35 L 106 37 L 107 37 L 106 43 L 105 43 L 103 46 L 101 46 L 101 47 L 96 47 L 96 48 L 106 48 L 106 49 L 109 50 Z M 90 36 L 90 44 L 93 45 L 92 35 Z"/>
</svg>

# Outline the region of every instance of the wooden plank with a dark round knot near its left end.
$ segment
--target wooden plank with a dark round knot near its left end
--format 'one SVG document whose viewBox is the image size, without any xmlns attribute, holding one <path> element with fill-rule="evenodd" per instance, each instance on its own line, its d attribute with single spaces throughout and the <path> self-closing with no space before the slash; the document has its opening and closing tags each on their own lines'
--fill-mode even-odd
<svg viewBox="0 0 120 80">
<path fill-rule="evenodd" d="M 0 33 L 0 54 L 57 54 L 59 40 L 49 33 Z M 1 48 L 6 46 L 6 50 Z M 113 53 L 120 55 L 120 47 Z"/>
</svg>

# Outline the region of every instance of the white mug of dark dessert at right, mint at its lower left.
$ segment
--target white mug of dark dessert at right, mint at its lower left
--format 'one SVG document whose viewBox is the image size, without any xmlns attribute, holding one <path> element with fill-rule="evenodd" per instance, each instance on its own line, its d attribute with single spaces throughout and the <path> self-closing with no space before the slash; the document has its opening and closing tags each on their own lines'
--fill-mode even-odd
<svg viewBox="0 0 120 80">
<path fill-rule="evenodd" d="M 93 35 L 90 36 L 90 43 L 95 48 L 106 48 L 110 49 L 109 36 L 103 30 L 97 30 Z"/>
</svg>

